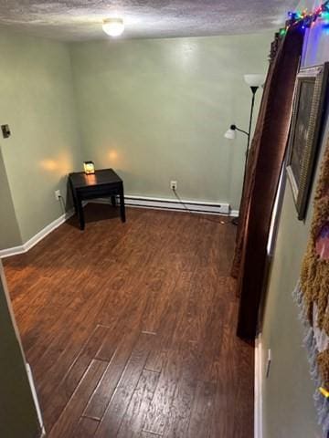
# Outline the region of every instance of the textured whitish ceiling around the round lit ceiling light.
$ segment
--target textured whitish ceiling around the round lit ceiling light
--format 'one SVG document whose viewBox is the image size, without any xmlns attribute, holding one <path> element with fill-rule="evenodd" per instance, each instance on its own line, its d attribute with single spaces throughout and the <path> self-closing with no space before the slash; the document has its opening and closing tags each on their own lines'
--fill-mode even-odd
<svg viewBox="0 0 329 438">
<path fill-rule="evenodd" d="M 0 26 L 80 41 L 108 38 L 108 16 L 122 16 L 125 38 L 211 36 L 276 29 L 298 0 L 0 0 Z"/>
</svg>

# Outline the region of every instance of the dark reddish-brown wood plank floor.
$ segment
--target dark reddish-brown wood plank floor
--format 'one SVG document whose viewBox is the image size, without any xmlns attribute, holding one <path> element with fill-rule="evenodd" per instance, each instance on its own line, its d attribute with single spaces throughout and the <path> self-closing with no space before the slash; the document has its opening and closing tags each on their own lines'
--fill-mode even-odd
<svg viewBox="0 0 329 438">
<path fill-rule="evenodd" d="M 251 438 L 253 349 L 235 337 L 228 276 L 234 226 L 138 209 L 122 224 L 110 206 L 86 210 L 84 232 L 70 220 L 5 259 L 48 436 Z"/>
</svg>

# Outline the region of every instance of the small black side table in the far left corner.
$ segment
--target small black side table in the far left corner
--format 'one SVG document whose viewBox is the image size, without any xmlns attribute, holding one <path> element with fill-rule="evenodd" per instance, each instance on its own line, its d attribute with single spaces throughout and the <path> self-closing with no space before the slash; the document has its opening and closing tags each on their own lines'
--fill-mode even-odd
<svg viewBox="0 0 329 438">
<path fill-rule="evenodd" d="M 82 201 L 95 198 L 111 197 L 111 203 L 116 205 L 116 195 L 120 196 L 120 214 L 125 222 L 123 182 L 112 169 L 95 171 L 92 175 L 85 172 L 69 173 L 69 184 L 73 194 L 75 211 L 79 216 L 80 229 L 84 230 L 85 220 Z"/>
</svg>

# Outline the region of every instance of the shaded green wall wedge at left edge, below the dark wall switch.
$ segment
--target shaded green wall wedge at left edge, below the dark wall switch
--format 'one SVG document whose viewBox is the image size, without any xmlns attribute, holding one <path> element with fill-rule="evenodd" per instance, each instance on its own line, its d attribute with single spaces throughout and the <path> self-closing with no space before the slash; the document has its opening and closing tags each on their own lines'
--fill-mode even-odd
<svg viewBox="0 0 329 438">
<path fill-rule="evenodd" d="M 15 208 L 0 150 L 0 249 L 22 245 Z"/>
</svg>

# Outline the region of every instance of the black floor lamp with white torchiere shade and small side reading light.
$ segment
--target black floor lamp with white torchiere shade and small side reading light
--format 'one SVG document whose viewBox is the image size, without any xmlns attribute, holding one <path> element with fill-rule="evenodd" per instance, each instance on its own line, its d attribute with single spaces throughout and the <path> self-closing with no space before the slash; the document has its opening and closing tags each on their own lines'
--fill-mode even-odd
<svg viewBox="0 0 329 438">
<path fill-rule="evenodd" d="M 238 126 L 231 125 L 229 127 L 229 129 L 224 134 L 224 137 L 228 140 L 235 140 L 237 138 L 237 131 L 242 132 L 243 134 L 247 135 L 246 158 L 245 158 L 245 164 L 244 164 L 242 192 L 241 192 L 239 208 L 241 206 L 242 196 L 243 196 L 244 187 L 245 187 L 245 183 L 246 183 L 246 172 L 247 172 L 247 163 L 248 163 L 248 155 L 249 155 L 252 116 L 253 116 L 253 110 L 254 110 L 254 106 L 255 106 L 255 97 L 256 97 L 257 90 L 264 84 L 265 78 L 263 75 L 244 75 L 244 79 L 245 79 L 246 83 L 249 85 L 249 88 L 250 88 L 251 94 L 252 94 L 250 116 L 249 116 L 249 130 L 248 131 L 241 130 L 238 128 Z M 238 225 L 239 224 L 239 217 L 235 217 L 234 219 L 232 219 L 232 224 Z"/>
</svg>

